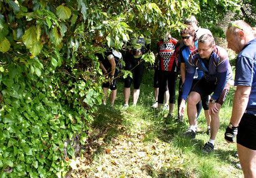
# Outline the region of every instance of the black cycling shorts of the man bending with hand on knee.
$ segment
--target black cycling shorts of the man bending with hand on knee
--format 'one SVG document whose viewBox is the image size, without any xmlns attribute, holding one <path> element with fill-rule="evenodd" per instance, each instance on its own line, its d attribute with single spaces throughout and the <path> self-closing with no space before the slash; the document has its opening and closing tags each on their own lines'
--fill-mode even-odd
<svg viewBox="0 0 256 178">
<path fill-rule="evenodd" d="M 191 91 L 195 91 L 195 92 L 199 93 L 201 100 L 202 100 L 202 98 L 209 97 L 209 95 L 212 94 L 212 92 L 214 92 L 216 87 L 217 87 L 217 85 L 215 84 L 215 82 L 207 82 L 207 80 L 205 80 L 205 78 L 202 77 L 199 80 L 199 82 L 195 83 L 194 88 L 192 88 Z M 227 97 L 227 94 L 229 93 L 229 88 L 230 88 L 229 83 L 226 83 L 226 85 L 225 85 L 224 89 L 222 90 L 222 93 L 220 93 L 220 96 L 219 96 L 218 100 L 216 101 L 216 103 L 223 105 L 223 103 Z"/>
</svg>

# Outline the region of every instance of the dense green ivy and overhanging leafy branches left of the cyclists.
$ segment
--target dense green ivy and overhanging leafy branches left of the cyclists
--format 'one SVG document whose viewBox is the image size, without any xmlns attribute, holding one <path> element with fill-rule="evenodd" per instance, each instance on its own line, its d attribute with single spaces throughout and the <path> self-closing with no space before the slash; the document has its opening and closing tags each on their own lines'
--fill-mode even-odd
<svg viewBox="0 0 256 178">
<path fill-rule="evenodd" d="M 104 49 L 92 40 L 126 49 L 199 9 L 190 0 L 0 1 L 0 177 L 64 177 L 101 103 L 94 54 Z"/>
</svg>

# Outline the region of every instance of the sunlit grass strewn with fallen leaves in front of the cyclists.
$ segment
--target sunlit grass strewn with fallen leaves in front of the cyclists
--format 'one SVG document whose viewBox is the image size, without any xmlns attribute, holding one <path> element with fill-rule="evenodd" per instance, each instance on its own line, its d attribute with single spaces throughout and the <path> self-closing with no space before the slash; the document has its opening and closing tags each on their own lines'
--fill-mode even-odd
<svg viewBox="0 0 256 178">
<path fill-rule="evenodd" d="M 137 106 L 121 110 L 124 104 L 123 82 L 117 83 L 114 108 L 99 106 L 84 153 L 77 161 L 73 177 L 243 177 L 235 164 L 236 144 L 227 144 L 224 133 L 232 111 L 234 91 L 230 89 L 220 110 L 220 129 L 215 151 L 204 154 L 201 149 L 209 140 L 204 113 L 199 117 L 195 139 L 181 136 L 189 127 L 166 120 L 167 111 L 155 117 L 152 80 L 154 72 L 146 71 Z M 132 105 L 130 96 L 130 105 Z M 177 106 L 174 110 L 177 115 Z"/>
</svg>

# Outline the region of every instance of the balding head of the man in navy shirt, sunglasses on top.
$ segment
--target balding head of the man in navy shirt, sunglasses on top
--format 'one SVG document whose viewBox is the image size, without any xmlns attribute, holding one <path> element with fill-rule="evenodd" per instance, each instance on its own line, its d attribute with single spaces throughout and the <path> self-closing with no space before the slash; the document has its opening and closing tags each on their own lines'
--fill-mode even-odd
<svg viewBox="0 0 256 178">
<path fill-rule="evenodd" d="M 245 21 L 235 21 L 229 24 L 226 31 L 227 47 L 239 54 L 244 45 L 255 39 L 255 31 Z"/>
</svg>

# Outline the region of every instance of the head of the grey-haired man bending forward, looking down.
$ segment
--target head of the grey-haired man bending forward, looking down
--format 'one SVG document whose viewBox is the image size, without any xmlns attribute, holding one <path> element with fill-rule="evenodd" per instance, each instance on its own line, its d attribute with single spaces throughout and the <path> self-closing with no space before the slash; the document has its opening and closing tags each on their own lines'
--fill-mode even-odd
<svg viewBox="0 0 256 178">
<path fill-rule="evenodd" d="M 198 52 L 202 59 L 209 59 L 214 49 L 214 37 L 210 34 L 200 36 L 198 40 Z"/>
</svg>

